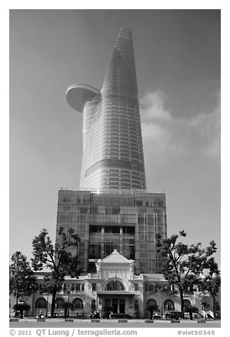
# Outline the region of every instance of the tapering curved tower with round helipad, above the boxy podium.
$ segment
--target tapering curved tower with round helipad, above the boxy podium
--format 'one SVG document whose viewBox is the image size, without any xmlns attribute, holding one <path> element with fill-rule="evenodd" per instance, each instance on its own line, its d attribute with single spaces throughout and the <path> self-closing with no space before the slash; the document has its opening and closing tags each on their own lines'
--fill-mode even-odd
<svg viewBox="0 0 230 337">
<path fill-rule="evenodd" d="M 72 108 L 83 112 L 80 188 L 145 190 L 131 30 L 119 32 L 102 91 L 74 84 L 66 97 Z"/>
</svg>

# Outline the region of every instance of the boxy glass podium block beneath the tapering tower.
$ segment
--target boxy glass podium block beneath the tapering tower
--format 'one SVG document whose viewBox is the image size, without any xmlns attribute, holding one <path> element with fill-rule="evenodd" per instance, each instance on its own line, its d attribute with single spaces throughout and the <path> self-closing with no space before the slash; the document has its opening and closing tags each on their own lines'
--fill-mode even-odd
<svg viewBox="0 0 230 337">
<path fill-rule="evenodd" d="M 80 236 L 78 255 L 85 272 L 96 272 L 95 262 L 114 249 L 135 260 L 135 273 L 162 270 L 155 234 L 167 236 L 164 193 L 59 190 L 57 232 L 60 227 L 72 227 Z"/>
</svg>

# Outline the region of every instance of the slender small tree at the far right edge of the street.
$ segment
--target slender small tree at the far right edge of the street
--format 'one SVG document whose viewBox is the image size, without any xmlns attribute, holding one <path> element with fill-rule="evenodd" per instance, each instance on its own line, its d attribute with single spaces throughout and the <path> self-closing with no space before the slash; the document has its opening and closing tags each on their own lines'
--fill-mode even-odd
<svg viewBox="0 0 230 337">
<path fill-rule="evenodd" d="M 200 290 L 207 291 L 212 296 L 212 311 L 214 319 L 216 319 L 216 297 L 221 285 L 220 270 L 218 264 L 214 261 L 214 257 L 207 258 L 203 262 L 203 269 L 200 282 Z"/>
</svg>

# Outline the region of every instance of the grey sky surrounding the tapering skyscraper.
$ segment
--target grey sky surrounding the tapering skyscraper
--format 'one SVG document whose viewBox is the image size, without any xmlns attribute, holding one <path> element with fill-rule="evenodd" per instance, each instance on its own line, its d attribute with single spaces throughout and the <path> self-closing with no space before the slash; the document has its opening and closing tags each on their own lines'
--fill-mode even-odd
<svg viewBox="0 0 230 337">
<path fill-rule="evenodd" d="M 13 9 L 10 254 L 55 239 L 58 190 L 78 189 L 82 114 L 68 85 L 99 90 L 119 28 L 131 28 L 147 190 L 167 195 L 168 235 L 217 242 L 220 263 L 220 11 Z"/>
</svg>

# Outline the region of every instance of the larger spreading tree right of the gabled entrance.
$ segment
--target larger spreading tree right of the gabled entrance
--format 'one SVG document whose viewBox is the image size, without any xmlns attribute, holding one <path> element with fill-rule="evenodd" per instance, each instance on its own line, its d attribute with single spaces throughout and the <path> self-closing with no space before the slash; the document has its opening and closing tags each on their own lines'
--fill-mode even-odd
<svg viewBox="0 0 230 337">
<path fill-rule="evenodd" d="M 184 312 L 183 294 L 193 294 L 197 285 L 200 284 L 200 273 L 202 273 L 204 261 L 217 251 L 214 241 L 210 246 L 202 249 L 201 243 L 183 244 L 178 242 L 178 236 L 185 237 L 184 230 L 179 235 L 172 235 L 168 239 L 162 239 L 161 234 L 156 235 L 157 253 L 163 260 L 164 278 L 170 285 L 176 285 L 181 299 L 181 312 Z"/>
</svg>

